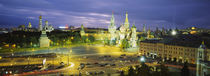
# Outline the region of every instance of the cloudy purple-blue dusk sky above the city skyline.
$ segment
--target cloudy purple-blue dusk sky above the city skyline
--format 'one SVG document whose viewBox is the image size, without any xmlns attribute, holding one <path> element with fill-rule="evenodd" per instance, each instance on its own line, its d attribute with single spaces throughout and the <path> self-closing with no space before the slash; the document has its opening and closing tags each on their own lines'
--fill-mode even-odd
<svg viewBox="0 0 210 76">
<path fill-rule="evenodd" d="M 210 28 L 210 0 L 1 0 L 0 27 L 28 22 L 38 27 L 39 15 L 54 27 L 73 25 L 107 28 L 112 11 L 117 26 L 128 12 L 130 26 L 147 28 Z"/>
</svg>

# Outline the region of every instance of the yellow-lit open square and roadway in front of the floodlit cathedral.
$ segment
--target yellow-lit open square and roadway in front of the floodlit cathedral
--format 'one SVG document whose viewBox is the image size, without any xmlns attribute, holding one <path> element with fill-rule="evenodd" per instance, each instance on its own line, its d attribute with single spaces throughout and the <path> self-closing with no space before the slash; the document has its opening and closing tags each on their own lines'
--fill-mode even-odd
<svg viewBox="0 0 210 76">
<path fill-rule="evenodd" d="M 72 50 L 72 52 L 70 52 Z M 87 45 L 77 47 L 66 47 L 66 48 L 55 48 L 46 50 L 35 50 L 27 53 L 16 53 L 15 55 L 28 55 L 28 54 L 44 54 L 44 53 L 56 53 L 56 58 L 46 58 L 46 64 L 59 65 L 60 62 L 68 64 L 74 64 L 73 67 L 65 70 L 59 70 L 59 73 L 46 72 L 45 75 L 75 75 L 79 74 L 78 67 L 81 63 L 89 63 L 92 67 L 85 67 L 80 70 L 82 74 L 88 72 L 100 72 L 104 71 L 105 74 L 118 75 L 119 70 L 127 70 L 129 66 L 139 65 L 139 58 L 136 53 L 133 52 L 122 52 L 120 48 L 100 45 Z M 120 55 L 126 54 L 125 58 L 119 58 Z M 111 57 L 105 57 L 110 55 Z M 28 64 L 42 64 L 45 58 L 3 58 L 0 61 L 0 66 L 13 66 L 13 65 L 28 65 Z M 98 63 L 98 64 L 95 64 Z M 116 66 L 100 66 L 101 64 L 115 64 Z M 149 64 L 156 66 L 155 64 Z M 181 66 L 167 65 L 169 67 L 180 68 Z M 192 68 L 193 69 L 193 68 Z M 50 74 L 49 74 L 50 73 Z"/>
</svg>

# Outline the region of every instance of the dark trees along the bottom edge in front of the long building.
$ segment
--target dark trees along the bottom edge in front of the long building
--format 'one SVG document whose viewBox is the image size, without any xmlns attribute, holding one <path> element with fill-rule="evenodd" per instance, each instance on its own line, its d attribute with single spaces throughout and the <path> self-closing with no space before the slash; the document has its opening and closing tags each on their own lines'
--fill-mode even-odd
<svg viewBox="0 0 210 76">
<path fill-rule="evenodd" d="M 134 69 L 135 68 L 135 69 Z M 187 63 L 184 64 L 181 69 L 181 76 L 190 76 L 190 70 Z M 157 67 L 150 67 L 144 63 L 141 66 L 137 65 L 135 67 L 130 66 L 128 69 L 128 74 L 125 71 L 121 71 L 120 76 L 173 76 L 170 74 L 168 67 L 161 63 Z"/>
</svg>

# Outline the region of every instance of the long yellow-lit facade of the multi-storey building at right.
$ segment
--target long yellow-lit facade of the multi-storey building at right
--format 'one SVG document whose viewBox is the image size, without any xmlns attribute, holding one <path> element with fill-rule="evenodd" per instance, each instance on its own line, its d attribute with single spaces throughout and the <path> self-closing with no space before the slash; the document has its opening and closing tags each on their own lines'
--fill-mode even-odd
<svg viewBox="0 0 210 76">
<path fill-rule="evenodd" d="M 147 57 L 161 58 L 163 61 L 196 64 L 198 47 L 170 45 L 159 40 L 145 40 L 140 42 L 139 53 Z M 206 59 L 210 61 L 210 49 L 206 48 L 205 54 Z"/>
</svg>

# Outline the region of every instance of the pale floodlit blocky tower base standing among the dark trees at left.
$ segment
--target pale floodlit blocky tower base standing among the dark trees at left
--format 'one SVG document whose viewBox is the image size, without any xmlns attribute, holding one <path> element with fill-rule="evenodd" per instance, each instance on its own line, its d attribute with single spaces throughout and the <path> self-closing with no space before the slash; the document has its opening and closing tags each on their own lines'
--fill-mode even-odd
<svg viewBox="0 0 210 76">
<path fill-rule="evenodd" d="M 41 37 L 39 39 L 40 47 L 49 47 L 50 40 L 47 37 L 46 31 L 42 31 Z"/>
</svg>

